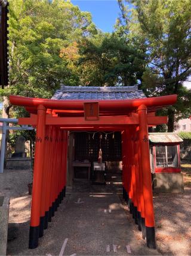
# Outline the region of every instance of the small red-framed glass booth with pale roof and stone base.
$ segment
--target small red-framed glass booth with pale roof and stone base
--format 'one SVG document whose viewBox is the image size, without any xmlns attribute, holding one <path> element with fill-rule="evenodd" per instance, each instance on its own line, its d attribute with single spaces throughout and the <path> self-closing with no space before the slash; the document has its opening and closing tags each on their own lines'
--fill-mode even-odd
<svg viewBox="0 0 191 256">
<path fill-rule="evenodd" d="M 155 192 L 183 192 L 180 168 L 180 143 L 183 140 L 171 132 L 149 133 L 150 167 Z"/>
</svg>

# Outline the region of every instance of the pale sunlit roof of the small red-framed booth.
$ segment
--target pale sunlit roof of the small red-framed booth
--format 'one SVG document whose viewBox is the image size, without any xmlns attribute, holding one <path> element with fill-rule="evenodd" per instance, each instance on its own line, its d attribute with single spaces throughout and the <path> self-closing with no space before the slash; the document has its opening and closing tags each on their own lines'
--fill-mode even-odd
<svg viewBox="0 0 191 256">
<path fill-rule="evenodd" d="M 178 134 L 171 132 L 150 132 L 149 141 L 152 143 L 180 143 L 183 140 Z"/>
</svg>

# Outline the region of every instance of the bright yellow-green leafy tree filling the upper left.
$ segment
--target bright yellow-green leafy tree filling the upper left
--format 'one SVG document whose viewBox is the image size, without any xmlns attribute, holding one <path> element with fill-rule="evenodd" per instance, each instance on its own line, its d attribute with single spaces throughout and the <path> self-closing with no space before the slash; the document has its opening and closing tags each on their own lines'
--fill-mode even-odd
<svg viewBox="0 0 191 256">
<path fill-rule="evenodd" d="M 70 1 L 9 2 L 10 86 L 1 95 L 50 98 L 60 83 L 78 85 L 75 68 L 68 67 L 68 59 L 61 58 L 60 52 L 73 41 L 96 33 L 91 14 Z M 9 110 L 7 102 L 7 114 Z"/>
</svg>

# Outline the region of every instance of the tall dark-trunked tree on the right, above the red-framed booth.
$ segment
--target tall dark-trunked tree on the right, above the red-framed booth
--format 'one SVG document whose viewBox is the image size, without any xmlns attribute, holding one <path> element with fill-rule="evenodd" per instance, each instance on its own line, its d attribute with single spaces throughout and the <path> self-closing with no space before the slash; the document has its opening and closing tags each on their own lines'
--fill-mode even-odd
<svg viewBox="0 0 191 256">
<path fill-rule="evenodd" d="M 191 92 L 183 86 L 191 74 L 191 1 L 118 0 L 122 11 L 118 32 L 143 42 L 148 64 L 142 86 L 150 95 L 177 94 L 175 106 L 168 107 L 168 131 L 178 119 L 191 113 Z M 130 10 L 125 3 L 133 4 Z"/>
</svg>

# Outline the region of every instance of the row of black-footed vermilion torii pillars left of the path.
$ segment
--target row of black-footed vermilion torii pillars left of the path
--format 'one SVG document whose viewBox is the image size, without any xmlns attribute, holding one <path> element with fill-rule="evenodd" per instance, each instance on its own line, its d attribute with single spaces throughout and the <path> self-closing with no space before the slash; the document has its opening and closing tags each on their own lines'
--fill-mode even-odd
<svg viewBox="0 0 191 256">
<path fill-rule="evenodd" d="M 38 246 L 48 222 L 63 200 L 66 191 L 67 131 L 46 125 L 48 113 L 38 106 L 35 164 L 33 170 L 29 249 Z"/>
</svg>

